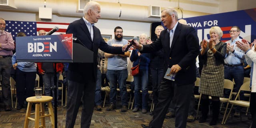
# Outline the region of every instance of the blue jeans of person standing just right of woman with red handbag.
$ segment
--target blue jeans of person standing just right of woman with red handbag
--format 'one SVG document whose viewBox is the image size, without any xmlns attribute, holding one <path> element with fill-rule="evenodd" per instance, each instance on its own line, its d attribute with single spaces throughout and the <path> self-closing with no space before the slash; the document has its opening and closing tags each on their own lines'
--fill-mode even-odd
<svg viewBox="0 0 256 128">
<path fill-rule="evenodd" d="M 153 99 L 154 104 L 156 105 L 158 103 L 158 90 L 160 88 L 161 81 L 164 77 L 164 69 L 150 68 L 150 70 L 152 74 Z"/>
</svg>

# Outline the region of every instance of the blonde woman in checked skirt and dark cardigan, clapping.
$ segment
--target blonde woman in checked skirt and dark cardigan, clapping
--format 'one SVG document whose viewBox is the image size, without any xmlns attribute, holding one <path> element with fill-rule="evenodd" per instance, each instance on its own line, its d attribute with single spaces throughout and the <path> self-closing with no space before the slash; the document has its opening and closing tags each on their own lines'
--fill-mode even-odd
<svg viewBox="0 0 256 128">
<path fill-rule="evenodd" d="M 204 61 L 201 73 L 199 92 L 202 94 L 202 117 L 199 123 L 206 122 L 209 106 L 209 96 L 212 96 L 212 121 L 210 126 L 216 125 L 220 112 L 220 96 L 224 90 L 224 57 L 227 44 L 220 41 L 223 32 L 218 26 L 210 28 L 210 41 L 202 41 L 199 57 Z"/>
</svg>

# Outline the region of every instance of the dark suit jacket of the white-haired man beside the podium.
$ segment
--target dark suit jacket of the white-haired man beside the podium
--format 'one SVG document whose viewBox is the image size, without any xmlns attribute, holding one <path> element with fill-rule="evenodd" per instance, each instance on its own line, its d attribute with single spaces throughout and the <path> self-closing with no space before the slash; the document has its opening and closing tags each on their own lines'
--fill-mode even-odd
<svg viewBox="0 0 256 128">
<path fill-rule="evenodd" d="M 69 80 L 83 82 L 87 80 L 86 78 L 92 78 L 92 80 L 96 81 L 98 48 L 110 54 L 124 54 L 122 47 L 109 46 L 102 38 L 100 30 L 96 26 L 93 26 L 93 31 L 94 35 L 92 41 L 90 32 L 83 18 L 70 23 L 68 26 L 66 33 L 73 34 L 74 37 L 77 37 L 88 49 L 94 52 L 93 64 L 70 63 L 67 76 Z M 86 57 L 86 55 L 84 55 L 84 57 Z"/>
</svg>

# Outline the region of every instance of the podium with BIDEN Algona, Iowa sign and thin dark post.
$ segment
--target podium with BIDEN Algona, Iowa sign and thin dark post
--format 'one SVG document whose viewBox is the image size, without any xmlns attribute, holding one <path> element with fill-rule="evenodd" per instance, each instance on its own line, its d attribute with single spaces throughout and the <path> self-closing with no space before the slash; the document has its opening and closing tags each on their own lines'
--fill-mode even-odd
<svg viewBox="0 0 256 128">
<path fill-rule="evenodd" d="M 16 37 L 17 62 L 93 63 L 94 52 L 73 34 Z M 54 66 L 56 68 L 56 66 Z M 56 69 L 54 69 L 56 71 Z M 56 73 L 56 72 L 55 72 Z M 57 77 L 54 75 L 54 123 L 57 119 Z"/>
</svg>

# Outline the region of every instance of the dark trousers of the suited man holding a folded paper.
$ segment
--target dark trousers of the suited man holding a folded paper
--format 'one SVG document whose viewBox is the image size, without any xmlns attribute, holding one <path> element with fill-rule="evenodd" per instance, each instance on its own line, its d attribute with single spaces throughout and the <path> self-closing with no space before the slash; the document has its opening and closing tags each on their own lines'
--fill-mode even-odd
<svg viewBox="0 0 256 128">
<path fill-rule="evenodd" d="M 175 128 L 186 128 L 188 108 L 191 91 L 194 83 L 186 85 L 177 85 L 171 80 L 164 80 L 160 86 L 158 95 L 158 104 L 154 108 L 154 116 L 149 126 L 150 128 L 162 128 L 164 117 L 166 115 L 168 106 L 175 96 L 176 102 L 176 120 Z"/>
</svg>

